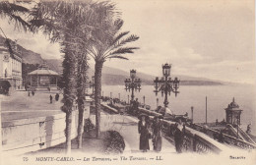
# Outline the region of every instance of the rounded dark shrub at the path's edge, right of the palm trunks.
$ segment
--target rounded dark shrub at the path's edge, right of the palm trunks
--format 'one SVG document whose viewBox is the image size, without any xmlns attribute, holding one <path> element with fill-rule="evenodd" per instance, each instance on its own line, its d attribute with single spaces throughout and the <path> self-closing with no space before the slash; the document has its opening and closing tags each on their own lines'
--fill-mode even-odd
<svg viewBox="0 0 256 165">
<path fill-rule="evenodd" d="M 106 138 L 106 154 L 119 154 L 123 153 L 125 142 L 123 137 L 116 131 L 107 131 Z"/>
</svg>

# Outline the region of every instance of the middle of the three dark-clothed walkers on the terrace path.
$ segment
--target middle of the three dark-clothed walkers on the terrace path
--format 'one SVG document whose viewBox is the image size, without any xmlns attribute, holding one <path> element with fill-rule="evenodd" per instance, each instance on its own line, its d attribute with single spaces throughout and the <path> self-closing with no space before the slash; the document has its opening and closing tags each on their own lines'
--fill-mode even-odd
<svg viewBox="0 0 256 165">
<path fill-rule="evenodd" d="M 162 129 L 162 116 L 155 116 L 153 122 L 153 146 L 154 150 L 160 152 L 161 150 L 161 129 Z"/>
</svg>

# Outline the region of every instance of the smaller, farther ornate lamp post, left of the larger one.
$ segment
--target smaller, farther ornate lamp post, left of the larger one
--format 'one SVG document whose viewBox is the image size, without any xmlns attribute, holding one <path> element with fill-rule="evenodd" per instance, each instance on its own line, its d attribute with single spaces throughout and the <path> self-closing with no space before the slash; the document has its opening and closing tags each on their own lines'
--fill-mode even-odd
<svg viewBox="0 0 256 165">
<path fill-rule="evenodd" d="M 136 79 L 136 70 L 131 70 L 130 71 L 130 78 L 131 79 L 126 79 L 124 81 L 125 83 L 125 90 L 132 90 L 132 94 L 131 94 L 131 100 L 134 100 L 134 90 L 137 91 L 141 90 L 141 80 L 140 79 Z"/>
</svg>

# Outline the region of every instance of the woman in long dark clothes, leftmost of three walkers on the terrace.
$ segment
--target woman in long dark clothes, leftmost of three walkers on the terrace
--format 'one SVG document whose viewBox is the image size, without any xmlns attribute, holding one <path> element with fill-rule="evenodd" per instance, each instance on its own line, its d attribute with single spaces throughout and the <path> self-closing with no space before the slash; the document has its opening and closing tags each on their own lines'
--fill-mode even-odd
<svg viewBox="0 0 256 165">
<path fill-rule="evenodd" d="M 149 139 L 151 137 L 150 134 L 150 124 L 149 124 L 149 116 L 142 114 L 139 116 L 139 123 L 138 123 L 138 132 L 140 134 L 140 150 L 143 152 L 147 152 L 150 150 Z"/>
</svg>

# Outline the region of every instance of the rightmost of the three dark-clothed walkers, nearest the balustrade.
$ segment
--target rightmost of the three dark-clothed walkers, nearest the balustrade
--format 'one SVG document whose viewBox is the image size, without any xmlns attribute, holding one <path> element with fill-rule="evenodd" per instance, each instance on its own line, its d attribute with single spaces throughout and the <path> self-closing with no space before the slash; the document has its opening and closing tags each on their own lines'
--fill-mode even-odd
<svg viewBox="0 0 256 165">
<path fill-rule="evenodd" d="M 185 125 L 182 123 L 181 119 L 178 119 L 178 122 L 175 124 L 175 127 L 174 127 L 174 141 L 175 141 L 175 148 L 177 153 L 182 152 L 184 132 L 185 132 Z"/>
</svg>

